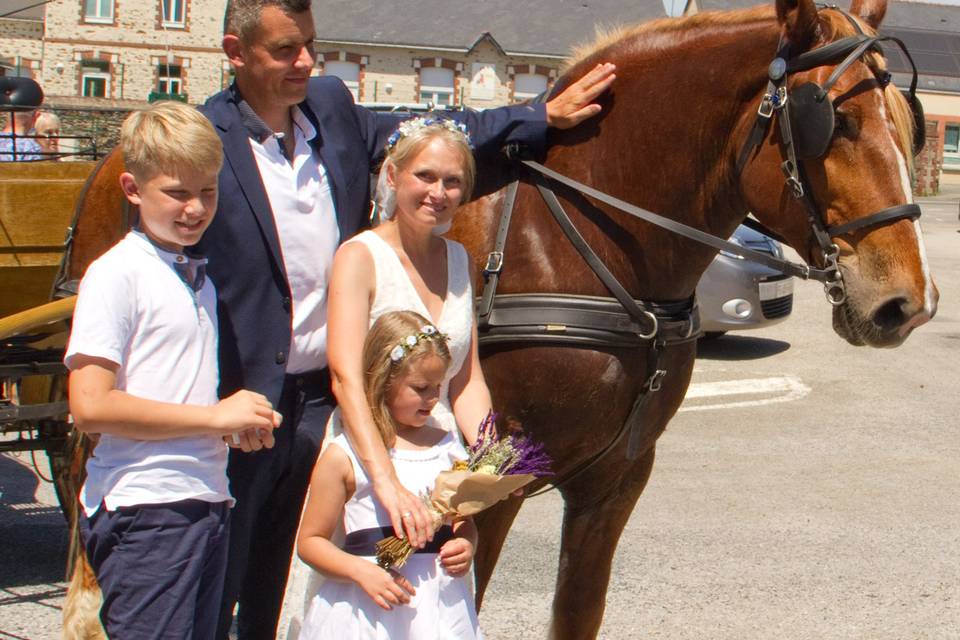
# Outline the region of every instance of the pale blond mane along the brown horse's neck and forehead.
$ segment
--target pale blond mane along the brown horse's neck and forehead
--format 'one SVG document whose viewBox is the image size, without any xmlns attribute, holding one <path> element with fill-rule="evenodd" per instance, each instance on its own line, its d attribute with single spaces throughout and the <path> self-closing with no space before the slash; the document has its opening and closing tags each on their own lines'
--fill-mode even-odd
<svg viewBox="0 0 960 640">
<path fill-rule="evenodd" d="M 827 41 L 846 38 L 857 33 L 854 26 L 838 11 L 820 11 L 819 17 L 821 30 L 827 34 L 825 38 Z M 773 8 L 761 5 L 736 11 L 704 11 L 692 16 L 660 18 L 635 25 L 598 27 L 593 40 L 573 48 L 570 57 L 564 61 L 561 72 L 566 74 L 586 60 L 601 54 L 610 55 L 615 49 L 627 44 L 655 48 L 662 46 L 663 41 L 659 36 L 666 36 L 671 43 L 676 43 L 679 35 L 705 27 L 745 26 L 772 18 Z M 862 20 L 857 17 L 854 19 L 865 32 L 876 35 L 876 32 Z M 883 71 L 887 67 L 883 56 L 873 51 L 866 55 L 866 61 L 874 72 Z M 906 160 L 907 169 L 910 175 L 913 175 L 913 153 L 911 152 L 915 126 L 913 114 L 903 94 L 893 86 L 892 82 L 884 88 L 883 93 L 897 131 L 897 142 Z"/>
</svg>

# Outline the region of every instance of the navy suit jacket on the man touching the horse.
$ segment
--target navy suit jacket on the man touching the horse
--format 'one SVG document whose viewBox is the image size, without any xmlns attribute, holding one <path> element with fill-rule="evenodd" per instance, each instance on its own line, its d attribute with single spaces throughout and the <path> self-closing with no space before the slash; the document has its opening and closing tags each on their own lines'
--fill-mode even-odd
<svg viewBox="0 0 960 640">
<path fill-rule="evenodd" d="M 274 223 L 236 94 L 221 91 L 201 107 L 223 142 L 220 200 L 198 248 L 209 258 L 220 316 L 220 395 L 238 389 L 280 400 L 290 350 L 292 299 Z M 317 129 L 314 152 L 330 180 L 345 241 L 369 225 L 370 172 L 401 117 L 357 106 L 335 77 L 312 78 L 300 104 Z M 508 144 L 541 155 L 546 144 L 543 105 L 518 105 L 453 114 L 466 123 L 478 165 L 475 195 L 509 177 L 501 150 Z"/>
</svg>

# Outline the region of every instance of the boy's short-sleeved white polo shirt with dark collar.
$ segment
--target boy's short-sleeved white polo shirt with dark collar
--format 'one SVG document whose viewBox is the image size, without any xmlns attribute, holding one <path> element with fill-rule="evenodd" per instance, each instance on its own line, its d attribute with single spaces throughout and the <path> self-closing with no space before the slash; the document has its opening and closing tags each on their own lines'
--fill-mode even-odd
<svg viewBox="0 0 960 640">
<path fill-rule="evenodd" d="M 64 362 L 120 365 L 117 389 L 176 404 L 217 402 L 217 302 L 209 278 L 194 292 L 173 269 L 182 256 L 131 231 L 95 260 L 80 283 Z M 227 446 L 219 436 L 134 440 L 102 434 L 87 461 L 87 515 L 195 499 L 232 503 Z"/>
</svg>

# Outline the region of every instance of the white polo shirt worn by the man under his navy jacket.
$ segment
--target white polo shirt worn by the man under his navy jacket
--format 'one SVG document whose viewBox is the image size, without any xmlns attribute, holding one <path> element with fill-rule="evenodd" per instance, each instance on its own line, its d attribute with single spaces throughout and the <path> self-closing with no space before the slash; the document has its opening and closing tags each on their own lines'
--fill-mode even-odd
<svg viewBox="0 0 960 640">
<path fill-rule="evenodd" d="M 292 163 L 276 138 L 249 140 L 273 209 L 293 296 L 286 370 L 302 373 L 327 366 L 327 286 L 340 227 L 326 169 L 310 145 L 317 131 L 299 108 L 290 112 L 296 140 Z"/>
</svg>

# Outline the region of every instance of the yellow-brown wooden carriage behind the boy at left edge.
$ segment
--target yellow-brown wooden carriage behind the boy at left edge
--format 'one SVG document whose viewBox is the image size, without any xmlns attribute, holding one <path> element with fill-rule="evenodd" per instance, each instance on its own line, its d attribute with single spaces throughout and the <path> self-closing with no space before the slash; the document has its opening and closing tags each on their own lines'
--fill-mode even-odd
<svg viewBox="0 0 960 640">
<path fill-rule="evenodd" d="M 27 78 L 0 83 L 0 110 L 11 118 L 42 98 Z M 63 350 L 83 270 L 123 232 L 83 213 L 103 206 L 99 188 L 87 184 L 101 164 L 75 156 L 0 162 L 0 451 L 46 453 L 68 520 L 82 474 L 71 460 L 86 444 L 69 424 Z M 116 200 L 115 190 L 105 197 Z M 108 207 L 114 219 L 118 206 Z M 90 224 L 78 227 L 81 218 Z M 71 249 L 78 232 L 92 254 Z"/>
</svg>

